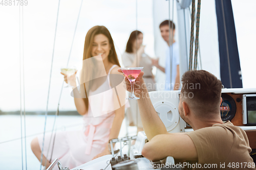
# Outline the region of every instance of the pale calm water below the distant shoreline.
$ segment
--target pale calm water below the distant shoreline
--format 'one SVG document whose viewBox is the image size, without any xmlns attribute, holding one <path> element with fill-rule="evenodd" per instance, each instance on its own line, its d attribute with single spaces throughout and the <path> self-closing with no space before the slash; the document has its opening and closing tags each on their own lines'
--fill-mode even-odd
<svg viewBox="0 0 256 170">
<path fill-rule="evenodd" d="M 0 169 L 40 169 L 40 162 L 33 154 L 30 143 L 37 135 L 44 134 L 45 122 L 46 132 L 52 132 L 54 115 L 26 115 L 26 150 L 25 150 L 25 123 L 22 117 L 20 126 L 20 115 L 0 115 Z M 83 126 L 82 116 L 59 115 L 56 118 L 55 127 L 57 131 L 80 130 Z M 21 128 L 23 140 L 21 140 Z M 127 135 L 125 120 L 123 121 L 119 137 Z M 128 128 L 129 135 L 136 135 L 136 127 Z M 22 147 L 23 141 L 23 147 Z M 22 154 L 23 150 L 23 154 Z M 26 151 L 26 152 L 25 152 Z M 23 155 L 23 156 L 22 156 Z M 27 155 L 27 164 L 26 164 Z M 54 158 L 55 159 L 55 158 Z M 23 162 L 23 164 L 22 164 Z M 27 167 L 27 168 L 26 168 Z"/>
</svg>

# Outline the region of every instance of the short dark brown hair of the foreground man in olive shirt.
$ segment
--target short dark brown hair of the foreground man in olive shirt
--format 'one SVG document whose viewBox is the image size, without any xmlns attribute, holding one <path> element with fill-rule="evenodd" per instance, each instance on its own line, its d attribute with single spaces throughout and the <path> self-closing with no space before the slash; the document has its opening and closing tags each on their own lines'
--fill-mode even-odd
<svg viewBox="0 0 256 170">
<path fill-rule="evenodd" d="M 222 83 L 216 76 L 205 70 L 190 70 L 181 81 L 181 95 L 195 114 L 209 118 L 210 113 L 220 111 Z"/>
</svg>

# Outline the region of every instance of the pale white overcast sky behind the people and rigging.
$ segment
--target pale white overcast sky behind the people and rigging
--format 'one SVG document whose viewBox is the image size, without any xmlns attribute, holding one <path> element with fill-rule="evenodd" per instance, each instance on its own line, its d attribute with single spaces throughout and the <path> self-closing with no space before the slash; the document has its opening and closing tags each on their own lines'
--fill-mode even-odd
<svg viewBox="0 0 256 170">
<path fill-rule="evenodd" d="M 157 56 L 154 49 L 153 1 L 165 0 L 138 0 L 136 18 L 135 0 L 84 0 L 69 66 L 81 68 L 84 38 L 87 31 L 95 25 L 103 25 L 110 30 L 120 61 L 126 41 L 136 28 L 143 32 L 145 52 L 151 57 Z M 252 88 L 256 83 L 252 74 L 256 63 L 254 52 L 256 11 L 253 9 L 256 2 L 253 0 L 246 0 L 243 3 L 239 0 L 231 2 L 237 30 L 243 85 L 245 88 Z M 22 96 L 25 93 L 27 111 L 46 110 L 52 56 L 54 58 L 48 109 L 56 110 L 57 108 L 63 82 L 60 68 L 67 64 L 80 4 L 81 1 L 77 0 L 60 1 L 54 54 L 58 1 L 28 0 L 28 5 L 23 6 L 24 40 L 22 44 L 24 44 L 25 88 L 22 85 L 21 91 Z M 0 71 L 2 79 L 0 110 L 2 111 L 20 109 L 19 16 L 18 6 L 0 5 Z M 206 30 L 206 26 L 206 23 L 200 22 L 200 29 Z M 203 68 L 207 69 L 207 64 L 210 65 L 209 62 L 206 62 Z M 23 97 L 22 102 L 24 102 Z M 22 107 L 24 108 L 24 106 Z M 63 89 L 60 110 L 75 110 L 69 88 Z"/>
</svg>

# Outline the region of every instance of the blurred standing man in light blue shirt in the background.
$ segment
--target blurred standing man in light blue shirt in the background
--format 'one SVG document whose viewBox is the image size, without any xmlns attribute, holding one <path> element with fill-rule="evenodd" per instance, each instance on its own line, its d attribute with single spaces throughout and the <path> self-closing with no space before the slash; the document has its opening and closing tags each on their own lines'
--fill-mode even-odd
<svg viewBox="0 0 256 170">
<path fill-rule="evenodd" d="M 172 29 L 172 26 L 173 26 L 173 29 Z M 165 68 L 159 65 L 158 59 L 152 60 L 152 63 L 161 71 L 165 72 L 165 90 L 179 90 L 180 89 L 179 45 L 175 41 L 175 39 L 172 38 L 172 36 L 174 37 L 175 35 L 175 25 L 172 21 L 170 21 L 170 28 L 169 28 L 169 20 L 165 20 L 160 24 L 159 28 L 161 31 L 161 36 L 169 46 L 166 50 Z M 171 44 L 170 44 L 169 38 L 173 40 Z M 170 53 L 173 54 L 172 62 L 170 61 L 170 57 L 171 57 Z M 172 63 L 172 71 L 170 70 L 170 63 Z M 170 74 L 172 74 L 172 81 L 170 80 Z"/>
</svg>

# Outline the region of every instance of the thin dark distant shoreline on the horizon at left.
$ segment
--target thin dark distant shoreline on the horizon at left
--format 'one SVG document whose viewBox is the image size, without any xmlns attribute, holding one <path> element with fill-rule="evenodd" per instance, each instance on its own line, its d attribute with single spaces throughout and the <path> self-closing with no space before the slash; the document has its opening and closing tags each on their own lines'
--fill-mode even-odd
<svg viewBox="0 0 256 170">
<path fill-rule="evenodd" d="M 23 112 L 24 114 L 24 112 Z M 26 115 L 45 115 L 46 111 L 26 111 Z M 48 111 L 48 115 L 55 115 L 56 111 Z M 20 111 L 3 112 L 0 115 L 20 115 Z M 79 115 L 77 111 L 59 111 L 59 115 Z"/>
</svg>

